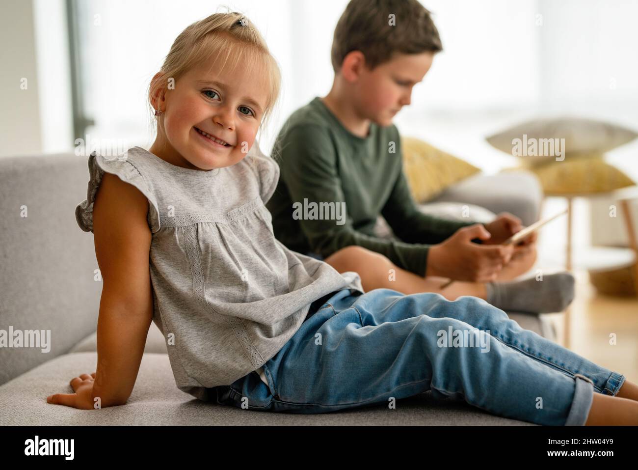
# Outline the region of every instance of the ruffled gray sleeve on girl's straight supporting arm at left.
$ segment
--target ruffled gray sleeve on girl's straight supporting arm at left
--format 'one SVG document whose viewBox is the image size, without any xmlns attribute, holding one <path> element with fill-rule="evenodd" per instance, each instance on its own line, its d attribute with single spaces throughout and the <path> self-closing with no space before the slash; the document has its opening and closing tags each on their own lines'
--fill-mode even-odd
<svg viewBox="0 0 638 470">
<path fill-rule="evenodd" d="M 152 233 L 159 230 L 159 210 L 156 199 L 144 177 L 126 157 L 105 158 L 95 152 L 89 156 L 89 186 L 86 199 L 75 208 L 75 220 L 80 229 L 93 232 L 93 202 L 104 173 L 117 175 L 122 181 L 135 186 L 149 201 L 147 222 Z"/>
</svg>

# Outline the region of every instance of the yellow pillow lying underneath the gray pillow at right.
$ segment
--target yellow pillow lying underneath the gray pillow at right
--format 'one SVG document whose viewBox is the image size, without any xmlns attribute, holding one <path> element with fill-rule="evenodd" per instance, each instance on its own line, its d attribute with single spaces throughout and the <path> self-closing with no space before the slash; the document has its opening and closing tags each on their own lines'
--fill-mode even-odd
<svg viewBox="0 0 638 470">
<path fill-rule="evenodd" d="M 545 195 L 550 196 L 602 193 L 635 185 L 627 174 L 605 162 L 602 155 L 589 158 L 567 155 L 563 162 L 538 165 L 528 171 L 536 174 Z"/>
</svg>

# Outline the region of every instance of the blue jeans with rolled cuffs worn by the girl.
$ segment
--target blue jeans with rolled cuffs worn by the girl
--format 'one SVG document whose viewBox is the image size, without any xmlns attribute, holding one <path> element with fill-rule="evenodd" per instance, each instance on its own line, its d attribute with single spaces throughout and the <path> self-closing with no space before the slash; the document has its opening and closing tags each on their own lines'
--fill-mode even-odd
<svg viewBox="0 0 638 470">
<path fill-rule="evenodd" d="M 211 389 L 213 399 L 327 413 L 431 390 L 434 398 L 463 399 L 498 416 L 584 425 L 593 392 L 616 395 L 625 382 L 480 298 L 344 289 L 320 303 L 264 364 L 268 385 L 253 371 Z"/>
</svg>

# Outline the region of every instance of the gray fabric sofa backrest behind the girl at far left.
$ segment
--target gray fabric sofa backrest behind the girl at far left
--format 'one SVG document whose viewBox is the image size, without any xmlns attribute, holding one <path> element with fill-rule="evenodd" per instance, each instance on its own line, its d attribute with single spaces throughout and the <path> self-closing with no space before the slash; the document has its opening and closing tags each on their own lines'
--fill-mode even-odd
<svg viewBox="0 0 638 470">
<path fill-rule="evenodd" d="M 102 283 L 94 280 L 93 234 L 75 222 L 75 206 L 87 197 L 87 159 L 0 158 L 0 384 L 96 330 Z M 17 347 L 17 330 L 40 330 L 43 342 L 48 331 L 50 351 L 24 347 L 35 337 Z"/>
</svg>

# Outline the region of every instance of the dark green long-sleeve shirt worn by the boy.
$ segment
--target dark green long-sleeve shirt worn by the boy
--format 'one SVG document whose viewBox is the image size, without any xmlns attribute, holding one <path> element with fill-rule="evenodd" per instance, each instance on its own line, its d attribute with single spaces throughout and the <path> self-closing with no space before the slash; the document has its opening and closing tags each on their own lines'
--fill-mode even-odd
<svg viewBox="0 0 638 470">
<path fill-rule="evenodd" d="M 318 97 L 288 118 L 272 156 L 281 175 L 267 208 L 275 236 L 291 250 L 327 257 L 345 246 L 359 245 L 423 276 L 428 244 L 440 243 L 471 224 L 419 211 L 403 174 L 396 126 L 372 123 L 367 137 L 358 137 Z M 299 208 L 304 199 L 307 207 L 311 202 L 345 202 L 345 223 L 293 218 L 293 203 L 298 202 Z M 378 215 L 401 241 L 375 236 Z"/>
</svg>

